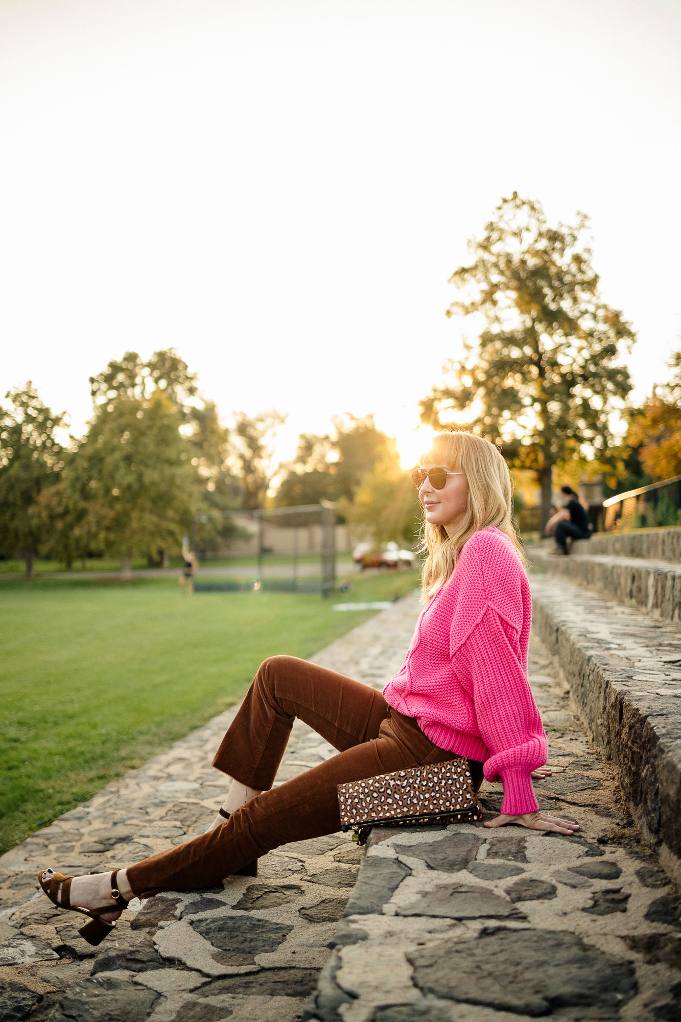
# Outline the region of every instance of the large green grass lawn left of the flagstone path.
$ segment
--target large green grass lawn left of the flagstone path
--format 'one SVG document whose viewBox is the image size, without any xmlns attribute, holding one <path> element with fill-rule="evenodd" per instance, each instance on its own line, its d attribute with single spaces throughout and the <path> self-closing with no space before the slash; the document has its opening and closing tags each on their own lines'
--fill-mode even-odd
<svg viewBox="0 0 681 1022">
<path fill-rule="evenodd" d="M 0 852 L 236 702 L 275 653 L 311 656 L 418 572 L 352 578 L 330 600 L 182 596 L 177 579 L 0 583 Z"/>
</svg>

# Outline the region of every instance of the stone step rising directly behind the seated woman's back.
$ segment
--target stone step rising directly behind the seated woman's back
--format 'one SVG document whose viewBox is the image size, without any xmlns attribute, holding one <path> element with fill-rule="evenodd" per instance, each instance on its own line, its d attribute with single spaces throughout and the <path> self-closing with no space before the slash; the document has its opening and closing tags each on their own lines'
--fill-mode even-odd
<svg viewBox="0 0 681 1022">
<path fill-rule="evenodd" d="M 681 632 L 564 577 L 531 582 L 533 633 L 611 757 L 643 839 L 681 881 Z"/>
</svg>

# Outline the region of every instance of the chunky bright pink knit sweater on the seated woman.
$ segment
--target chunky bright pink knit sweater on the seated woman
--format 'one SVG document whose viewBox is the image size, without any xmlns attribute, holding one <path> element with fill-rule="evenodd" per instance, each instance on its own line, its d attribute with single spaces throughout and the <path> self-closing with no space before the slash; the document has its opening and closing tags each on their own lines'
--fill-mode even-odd
<svg viewBox="0 0 681 1022">
<path fill-rule="evenodd" d="M 441 749 L 501 779 L 501 811 L 538 808 L 530 774 L 547 742 L 528 683 L 530 585 L 508 537 L 494 526 L 464 544 L 456 568 L 423 609 L 405 661 L 383 689 Z"/>
</svg>

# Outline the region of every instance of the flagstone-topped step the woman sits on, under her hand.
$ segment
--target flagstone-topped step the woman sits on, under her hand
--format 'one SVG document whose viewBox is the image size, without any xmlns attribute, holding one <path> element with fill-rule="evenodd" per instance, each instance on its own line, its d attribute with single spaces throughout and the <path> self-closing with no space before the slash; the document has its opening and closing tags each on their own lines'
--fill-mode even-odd
<svg viewBox="0 0 681 1022">
<path fill-rule="evenodd" d="M 535 782 L 540 807 L 578 820 L 580 833 L 375 828 L 307 1022 L 677 1017 L 674 886 L 620 811 L 615 772 L 536 635 L 530 684 L 549 763 L 565 768 Z M 483 785 L 486 820 L 500 798 L 500 785 Z"/>
</svg>

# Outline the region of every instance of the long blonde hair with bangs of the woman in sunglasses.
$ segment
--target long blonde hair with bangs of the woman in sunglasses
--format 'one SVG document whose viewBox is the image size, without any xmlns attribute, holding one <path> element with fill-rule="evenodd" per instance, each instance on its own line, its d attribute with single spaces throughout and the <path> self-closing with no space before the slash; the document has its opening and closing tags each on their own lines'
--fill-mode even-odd
<svg viewBox="0 0 681 1022">
<path fill-rule="evenodd" d="M 452 536 L 444 525 L 430 525 L 423 515 L 419 553 L 426 554 L 421 569 L 421 602 L 427 603 L 456 567 L 466 540 L 488 525 L 509 538 L 527 567 L 523 546 L 511 518 L 513 481 L 501 452 L 490 440 L 465 429 L 436 433 L 421 464 L 457 468 L 468 480 L 466 509 Z"/>
</svg>

